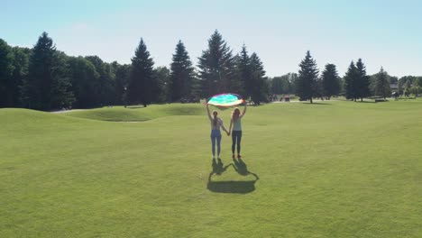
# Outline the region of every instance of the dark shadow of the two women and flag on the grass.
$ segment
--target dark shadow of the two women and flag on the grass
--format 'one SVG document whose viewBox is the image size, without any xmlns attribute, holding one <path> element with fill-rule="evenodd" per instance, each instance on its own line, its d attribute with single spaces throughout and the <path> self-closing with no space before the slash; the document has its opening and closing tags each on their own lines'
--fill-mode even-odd
<svg viewBox="0 0 422 238">
<path fill-rule="evenodd" d="M 255 182 L 260 179 L 258 175 L 248 170 L 246 163 L 242 159 L 233 159 L 232 163 L 224 165 L 223 161 L 213 159 L 212 161 L 213 170 L 209 173 L 208 184 L 206 188 L 216 193 L 239 193 L 246 194 L 251 193 L 255 190 Z M 222 175 L 228 168 L 232 167 L 239 175 L 248 176 L 252 175 L 252 180 L 242 181 L 213 181 L 213 176 Z"/>
</svg>

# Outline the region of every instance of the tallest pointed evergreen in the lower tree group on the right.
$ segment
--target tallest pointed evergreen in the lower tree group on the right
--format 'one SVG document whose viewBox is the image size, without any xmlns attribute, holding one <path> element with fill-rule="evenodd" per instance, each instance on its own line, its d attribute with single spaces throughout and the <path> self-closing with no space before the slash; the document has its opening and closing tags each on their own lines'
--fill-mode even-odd
<svg viewBox="0 0 422 238">
<path fill-rule="evenodd" d="M 296 94 L 301 101 L 310 100 L 316 94 L 316 80 L 318 78 L 318 69 L 316 69 L 316 60 L 312 58 L 309 50 L 307 55 L 299 64 L 298 78 L 296 80 Z"/>
</svg>

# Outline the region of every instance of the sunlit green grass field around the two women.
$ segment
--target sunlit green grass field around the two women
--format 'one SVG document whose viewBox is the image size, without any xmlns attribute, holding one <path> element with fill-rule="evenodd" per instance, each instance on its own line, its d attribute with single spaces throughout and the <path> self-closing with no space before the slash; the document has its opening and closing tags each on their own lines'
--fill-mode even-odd
<svg viewBox="0 0 422 238">
<path fill-rule="evenodd" d="M 251 106 L 243 172 L 208 182 L 204 105 L 0 109 L 0 237 L 422 237 L 421 118 L 420 100 Z"/>
</svg>

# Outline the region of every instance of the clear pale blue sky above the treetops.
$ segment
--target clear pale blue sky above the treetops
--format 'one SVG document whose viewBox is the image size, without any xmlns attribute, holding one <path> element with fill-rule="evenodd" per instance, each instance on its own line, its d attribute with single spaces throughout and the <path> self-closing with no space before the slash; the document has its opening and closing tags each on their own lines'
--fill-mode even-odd
<svg viewBox="0 0 422 238">
<path fill-rule="evenodd" d="M 70 56 L 130 63 L 141 38 L 155 66 L 169 66 L 179 40 L 193 63 L 218 30 L 234 53 L 243 43 L 267 76 L 297 72 L 306 51 L 344 76 L 362 58 L 367 72 L 422 76 L 418 0 L 0 0 L 0 38 L 32 47 L 48 32 Z"/>
</svg>

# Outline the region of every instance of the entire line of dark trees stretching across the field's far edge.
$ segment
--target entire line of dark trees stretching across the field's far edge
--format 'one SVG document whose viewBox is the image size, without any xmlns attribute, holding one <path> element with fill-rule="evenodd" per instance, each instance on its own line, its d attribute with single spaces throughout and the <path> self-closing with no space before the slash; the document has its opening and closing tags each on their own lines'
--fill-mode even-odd
<svg viewBox="0 0 422 238">
<path fill-rule="evenodd" d="M 37 110 L 90 108 L 101 105 L 150 105 L 197 102 L 219 93 L 242 95 L 255 105 L 271 95 L 295 94 L 300 100 L 345 96 L 389 96 L 390 83 L 399 93 L 422 93 L 421 77 L 390 77 L 384 69 L 368 76 L 362 59 L 351 62 L 343 78 L 334 64 L 319 75 L 307 51 L 298 73 L 268 78 L 259 56 L 245 45 L 234 54 L 215 31 L 194 67 L 182 41 L 176 44 L 170 68 L 155 67 L 141 38 L 130 64 L 107 63 L 97 56 L 73 57 L 57 50 L 47 32 L 32 49 L 11 47 L 0 39 L 0 107 Z"/>
</svg>

